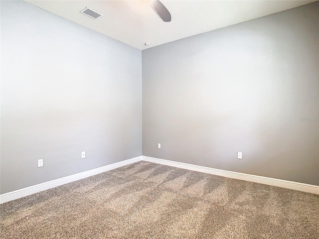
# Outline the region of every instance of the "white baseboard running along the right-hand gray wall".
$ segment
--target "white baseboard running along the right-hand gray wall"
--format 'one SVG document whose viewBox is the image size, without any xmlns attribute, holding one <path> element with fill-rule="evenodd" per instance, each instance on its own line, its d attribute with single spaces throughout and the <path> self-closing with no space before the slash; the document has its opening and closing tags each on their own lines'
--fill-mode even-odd
<svg viewBox="0 0 319 239">
<path fill-rule="evenodd" d="M 267 184 L 271 186 L 288 188 L 288 189 L 298 190 L 298 191 L 307 192 L 307 193 L 319 194 L 319 186 L 316 186 L 316 185 L 298 183 L 298 182 L 276 179 L 276 178 L 268 178 L 268 177 L 257 176 L 257 175 L 246 174 L 246 173 L 237 173 L 237 172 L 198 166 L 198 165 L 193 165 L 188 163 L 180 163 L 180 162 L 175 162 L 175 161 L 170 161 L 170 160 L 165 160 L 160 158 L 152 158 L 148 156 L 142 156 L 142 158 L 144 161 L 159 163 L 159 164 L 183 168 L 183 169 L 189 169 L 189 170 L 193 170 L 197 172 L 209 173 L 209 174 L 219 175 L 219 176 L 228 177 L 228 178 L 235 178 L 235 179 L 245 180 L 249 182 Z"/>
</svg>

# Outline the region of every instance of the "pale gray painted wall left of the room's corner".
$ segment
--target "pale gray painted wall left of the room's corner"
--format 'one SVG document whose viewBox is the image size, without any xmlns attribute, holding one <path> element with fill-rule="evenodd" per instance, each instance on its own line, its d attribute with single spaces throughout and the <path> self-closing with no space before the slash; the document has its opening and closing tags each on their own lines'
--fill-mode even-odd
<svg viewBox="0 0 319 239">
<path fill-rule="evenodd" d="M 140 155 L 141 51 L 1 1 L 0 193 Z"/>
</svg>

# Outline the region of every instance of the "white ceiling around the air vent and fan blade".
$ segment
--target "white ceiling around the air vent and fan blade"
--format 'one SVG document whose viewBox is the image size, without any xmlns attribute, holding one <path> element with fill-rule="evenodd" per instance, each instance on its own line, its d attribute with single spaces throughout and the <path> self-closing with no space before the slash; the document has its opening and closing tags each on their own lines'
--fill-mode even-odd
<svg viewBox="0 0 319 239">
<path fill-rule="evenodd" d="M 172 20 L 163 22 L 147 0 L 26 0 L 80 25 L 146 49 L 211 31 L 314 0 L 161 0 Z M 90 7 L 98 19 L 80 11 Z M 145 42 L 151 45 L 145 46 Z"/>
</svg>

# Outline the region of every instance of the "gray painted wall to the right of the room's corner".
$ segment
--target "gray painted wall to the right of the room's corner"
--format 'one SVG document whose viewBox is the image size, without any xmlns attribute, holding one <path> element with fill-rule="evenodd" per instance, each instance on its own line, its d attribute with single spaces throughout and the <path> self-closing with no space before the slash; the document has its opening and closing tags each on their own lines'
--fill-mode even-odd
<svg viewBox="0 0 319 239">
<path fill-rule="evenodd" d="M 143 155 L 319 185 L 318 25 L 315 2 L 144 50 Z"/>
</svg>

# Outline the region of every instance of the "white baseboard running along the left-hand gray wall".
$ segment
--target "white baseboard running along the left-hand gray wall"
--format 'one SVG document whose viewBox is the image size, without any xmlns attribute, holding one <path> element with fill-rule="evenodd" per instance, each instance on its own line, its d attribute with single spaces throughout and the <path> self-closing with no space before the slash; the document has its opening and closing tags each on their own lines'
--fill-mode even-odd
<svg viewBox="0 0 319 239">
<path fill-rule="evenodd" d="M 122 167 L 122 166 L 125 166 L 128 164 L 131 164 L 131 163 L 135 163 L 135 162 L 138 162 L 141 160 L 142 160 L 142 156 L 138 156 L 138 157 L 130 158 L 130 159 L 127 159 L 127 160 L 124 160 L 121 162 L 112 163 L 112 164 L 109 164 L 109 165 L 106 165 L 103 167 L 91 169 L 91 170 L 88 170 L 85 172 L 73 174 L 70 176 L 63 177 L 63 178 L 58 178 L 58 179 L 51 180 L 48 182 L 36 184 L 36 185 L 30 186 L 27 188 L 22 188 L 22 189 L 18 189 L 18 190 L 12 191 L 12 192 L 4 193 L 4 194 L 0 195 L 0 204 L 14 200 L 14 199 L 22 198 L 22 197 L 25 197 L 25 196 L 28 196 L 28 195 L 31 195 L 31 194 L 34 194 L 34 193 L 37 193 L 37 192 L 40 192 L 43 190 L 54 188 L 54 187 L 57 187 L 57 186 L 60 186 L 60 185 L 66 184 L 66 183 L 70 183 L 70 182 L 73 182 L 76 180 L 87 178 L 87 177 L 90 177 L 90 176 L 93 176 L 93 175 L 96 175 L 99 173 L 103 173 L 103 172 L 106 172 L 106 171 L 109 171 L 109 170 L 112 170 L 115 168 L 119 168 L 119 167 Z"/>
</svg>

